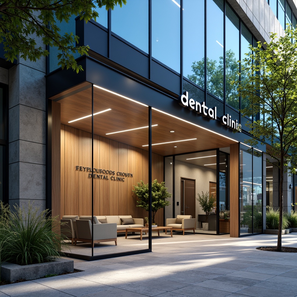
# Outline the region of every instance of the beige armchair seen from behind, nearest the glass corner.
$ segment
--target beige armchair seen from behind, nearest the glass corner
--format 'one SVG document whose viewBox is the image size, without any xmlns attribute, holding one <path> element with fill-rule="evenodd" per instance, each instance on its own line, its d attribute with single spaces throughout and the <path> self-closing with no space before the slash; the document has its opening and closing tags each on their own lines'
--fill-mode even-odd
<svg viewBox="0 0 297 297">
<path fill-rule="evenodd" d="M 77 219 L 73 225 L 76 232 L 74 245 L 77 241 L 92 242 L 92 224 L 89 219 Z M 116 223 L 93 223 L 93 247 L 95 243 L 107 241 L 114 241 L 118 245 L 116 236 Z"/>
</svg>

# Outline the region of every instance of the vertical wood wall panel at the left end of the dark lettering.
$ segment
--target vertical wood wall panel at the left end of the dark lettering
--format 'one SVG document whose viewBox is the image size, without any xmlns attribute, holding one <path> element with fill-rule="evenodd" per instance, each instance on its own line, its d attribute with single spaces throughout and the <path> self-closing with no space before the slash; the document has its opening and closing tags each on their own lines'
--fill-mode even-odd
<svg viewBox="0 0 297 297">
<path fill-rule="evenodd" d="M 78 215 L 78 129 L 65 125 L 65 214 Z"/>
</svg>

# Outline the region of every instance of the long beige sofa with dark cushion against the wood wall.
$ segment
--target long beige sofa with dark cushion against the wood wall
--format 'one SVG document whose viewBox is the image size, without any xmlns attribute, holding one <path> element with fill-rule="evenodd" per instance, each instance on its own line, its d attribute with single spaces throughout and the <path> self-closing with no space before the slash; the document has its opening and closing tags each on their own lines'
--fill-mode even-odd
<svg viewBox="0 0 297 297">
<path fill-rule="evenodd" d="M 132 216 L 96 216 L 101 223 L 116 223 L 117 233 L 126 232 L 127 228 L 144 227 L 143 219 L 135 219 Z"/>
</svg>

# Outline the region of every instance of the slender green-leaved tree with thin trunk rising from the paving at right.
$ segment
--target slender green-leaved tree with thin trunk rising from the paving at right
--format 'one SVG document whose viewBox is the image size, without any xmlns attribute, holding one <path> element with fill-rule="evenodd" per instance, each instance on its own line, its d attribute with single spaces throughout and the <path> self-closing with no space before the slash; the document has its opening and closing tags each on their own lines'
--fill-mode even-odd
<svg viewBox="0 0 297 297">
<path fill-rule="evenodd" d="M 249 105 L 241 110 L 244 115 L 260 113 L 260 119 L 247 124 L 254 138 L 246 142 L 257 146 L 258 140 L 268 143 L 266 154 L 280 169 L 279 232 L 277 251 L 282 250 L 283 181 L 284 172 L 293 170 L 297 153 L 297 39 L 296 29 L 287 26 L 285 36 L 271 42 L 249 46 L 241 68 L 248 74 L 241 81 L 238 92 L 249 98 Z M 291 164 L 291 165 L 290 165 Z"/>
</svg>

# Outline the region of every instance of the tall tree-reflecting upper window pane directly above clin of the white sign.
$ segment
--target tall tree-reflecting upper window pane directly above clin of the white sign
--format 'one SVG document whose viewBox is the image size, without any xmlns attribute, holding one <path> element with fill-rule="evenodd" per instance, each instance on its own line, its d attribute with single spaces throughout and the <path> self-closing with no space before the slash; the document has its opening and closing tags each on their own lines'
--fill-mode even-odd
<svg viewBox="0 0 297 297">
<path fill-rule="evenodd" d="M 232 81 L 238 80 L 239 72 L 239 19 L 233 10 L 226 5 L 226 103 L 239 109 L 237 87 Z"/>
</svg>

